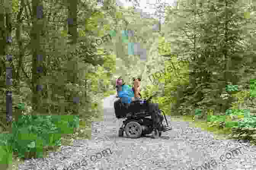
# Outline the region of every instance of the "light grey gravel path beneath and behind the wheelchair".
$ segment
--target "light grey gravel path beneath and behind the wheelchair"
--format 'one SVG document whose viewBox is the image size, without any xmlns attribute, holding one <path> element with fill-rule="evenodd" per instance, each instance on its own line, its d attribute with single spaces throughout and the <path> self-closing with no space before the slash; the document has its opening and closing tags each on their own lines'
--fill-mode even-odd
<svg viewBox="0 0 256 170">
<path fill-rule="evenodd" d="M 166 118 L 173 130 L 163 132 L 160 139 L 118 137 L 122 120 L 115 118 L 114 100 L 114 95 L 104 99 L 104 122 L 92 123 L 91 140 L 61 146 L 45 159 L 20 164 L 19 170 L 256 170 L 256 146 L 215 140 L 213 134 L 170 116 Z M 110 154 L 97 154 L 99 159 L 94 160 L 93 155 L 106 151 Z"/>
</svg>

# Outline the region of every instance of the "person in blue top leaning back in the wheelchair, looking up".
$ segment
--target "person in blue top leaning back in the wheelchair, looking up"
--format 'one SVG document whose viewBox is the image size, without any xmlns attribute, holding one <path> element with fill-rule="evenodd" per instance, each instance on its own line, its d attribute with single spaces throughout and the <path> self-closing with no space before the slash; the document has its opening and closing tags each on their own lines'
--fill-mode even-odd
<svg viewBox="0 0 256 170">
<path fill-rule="evenodd" d="M 122 77 L 119 77 L 116 82 L 117 93 L 118 97 L 121 99 L 121 102 L 124 103 L 129 110 L 132 110 L 133 112 L 139 112 L 139 110 L 141 110 L 143 107 L 143 100 L 140 100 L 142 105 L 140 105 L 140 103 L 138 105 L 138 102 L 133 102 L 136 101 L 134 98 L 134 91 L 129 85 L 125 85 Z M 170 129 L 168 127 L 162 126 L 163 115 L 160 113 L 158 104 L 149 103 L 146 110 L 147 112 L 152 113 L 151 118 L 155 123 L 155 126 L 161 126 L 162 131 L 168 131 Z"/>
</svg>

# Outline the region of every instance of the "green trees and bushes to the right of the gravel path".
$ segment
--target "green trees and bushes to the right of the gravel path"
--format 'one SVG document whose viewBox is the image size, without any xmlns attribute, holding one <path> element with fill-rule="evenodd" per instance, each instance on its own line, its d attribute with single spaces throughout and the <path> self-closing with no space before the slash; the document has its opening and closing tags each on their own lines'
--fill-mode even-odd
<svg viewBox="0 0 256 170">
<path fill-rule="evenodd" d="M 250 81 L 250 92 L 245 85 L 248 77 L 255 77 L 255 55 L 246 55 L 255 39 L 245 31 L 249 23 L 255 23 L 250 16 L 254 7 L 217 0 L 180 3 L 179 8 L 168 9 L 168 20 L 162 27 L 165 37 L 158 46 L 160 55 L 168 60 L 165 93 L 158 101 L 168 108 L 167 113 L 194 118 L 207 115 L 207 124 L 219 129 L 254 127 L 253 116 L 242 109 L 249 94 L 250 98 L 256 94 L 255 79 Z M 160 82 L 161 76 L 152 83 Z M 151 93 L 152 86 L 147 87 Z"/>
</svg>

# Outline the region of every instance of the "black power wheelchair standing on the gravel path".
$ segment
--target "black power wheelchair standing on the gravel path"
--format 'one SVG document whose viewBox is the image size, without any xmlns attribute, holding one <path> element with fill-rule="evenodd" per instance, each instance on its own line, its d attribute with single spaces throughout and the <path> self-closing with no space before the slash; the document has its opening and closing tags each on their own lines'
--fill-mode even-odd
<svg viewBox="0 0 256 170">
<path fill-rule="evenodd" d="M 147 105 L 154 96 L 155 95 L 150 96 L 149 99 L 143 100 L 143 102 L 134 101 L 133 106 L 138 106 L 140 108 L 140 110 L 136 109 L 137 112 L 134 112 L 133 109 L 130 109 L 125 104 L 123 104 L 120 98 L 114 102 L 116 118 L 125 119 L 123 121 L 122 127 L 119 128 L 118 137 L 123 137 L 124 132 L 129 138 L 139 138 L 141 136 L 145 136 L 151 133 L 153 138 L 158 138 L 162 135 L 162 129 L 160 127 L 154 128 L 152 118 L 147 118 L 148 116 L 151 116 L 151 113 L 146 111 Z M 116 96 L 116 98 L 118 97 Z M 168 126 L 165 113 L 163 112 L 163 110 L 160 110 L 160 112 L 163 113 L 166 124 Z"/>
</svg>

